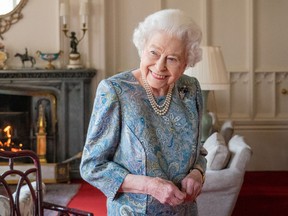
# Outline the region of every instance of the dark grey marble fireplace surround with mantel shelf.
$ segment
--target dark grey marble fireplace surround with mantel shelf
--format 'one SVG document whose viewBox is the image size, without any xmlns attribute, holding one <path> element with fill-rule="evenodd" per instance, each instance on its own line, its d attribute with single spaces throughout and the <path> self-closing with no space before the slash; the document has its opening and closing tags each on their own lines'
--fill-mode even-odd
<svg viewBox="0 0 288 216">
<path fill-rule="evenodd" d="M 91 113 L 90 82 L 95 75 L 95 69 L 0 70 L 0 94 L 43 97 L 55 105 L 51 122 L 56 131 L 47 142 L 48 162 L 60 163 L 82 151 Z M 71 172 L 79 172 L 77 161 Z"/>
</svg>

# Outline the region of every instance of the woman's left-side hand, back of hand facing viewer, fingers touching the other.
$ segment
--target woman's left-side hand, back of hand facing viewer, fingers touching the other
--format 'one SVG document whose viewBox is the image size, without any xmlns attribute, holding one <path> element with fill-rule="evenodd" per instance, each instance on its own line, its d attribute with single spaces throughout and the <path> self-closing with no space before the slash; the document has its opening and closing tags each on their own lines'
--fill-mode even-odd
<svg viewBox="0 0 288 216">
<path fill-rule="evenodd" d="M 171 206 L 183 203 L 186 198 L 186 193 L 181 192 L 173 182 L 157 177 L 147 181 L 146 192 L 162 204 Z"/>
</svg>

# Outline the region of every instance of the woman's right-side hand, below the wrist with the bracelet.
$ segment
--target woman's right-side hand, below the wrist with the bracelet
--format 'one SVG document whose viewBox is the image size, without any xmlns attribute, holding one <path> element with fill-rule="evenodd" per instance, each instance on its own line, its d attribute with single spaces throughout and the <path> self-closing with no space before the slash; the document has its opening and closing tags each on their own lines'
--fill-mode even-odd
<svg viewBox="0 0 288 216">
<path fill-rule="evenodd" d="M 186 193 L 186 200 L 195 200 L 201 193 L 203 186 L 202 174 L 194 169 L 182 181 L 182 192 Z"/>
</svg>

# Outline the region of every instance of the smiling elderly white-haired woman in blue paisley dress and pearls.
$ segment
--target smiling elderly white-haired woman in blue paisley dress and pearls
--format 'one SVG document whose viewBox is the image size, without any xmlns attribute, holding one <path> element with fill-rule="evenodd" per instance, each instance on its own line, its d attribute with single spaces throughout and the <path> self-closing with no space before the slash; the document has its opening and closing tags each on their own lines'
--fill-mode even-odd
<svg viewBox="0 0 288 216">
<path fill-rule="evenodd" d="M 80 170 L 107 196 L 108 215 L 197 215 L 202 98 L 183 73 L 200 61 L 200 40 L 180 10 L 156 12 L 134 32 L 140 68 L 100 82 Z"/>
</svg>

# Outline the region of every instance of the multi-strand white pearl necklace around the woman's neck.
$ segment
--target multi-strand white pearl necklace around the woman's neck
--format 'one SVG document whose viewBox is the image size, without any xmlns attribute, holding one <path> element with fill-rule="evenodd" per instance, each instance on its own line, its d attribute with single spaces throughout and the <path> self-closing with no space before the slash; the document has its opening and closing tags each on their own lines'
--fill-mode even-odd
<svg viewBox="0 0 288 216">
<path fill-rule="evenodd" d="M 167 93 L 167 96 L 166 96 L 164 103 L 162 105 L 158 105 L 153 94 L 152 94 L 151 87 L 149 86 L 149 84 L 147 83 L 147 80 L 143 76 L 142 76 L 142 81 L 144 84 L 144 89 L 145 89 L 145 92 L 147 94 L 148 100 L 149 100 L 153 110 L 155 111 L 155 113 L 160 115 L 160 116 L 165 115 L 167 113 L 169 106 L 170 106 L 170 103 L 171 103 L 172 90 L 173 90 L 174 84 L 169 86 L 168 93 Z"/>
</svg>

